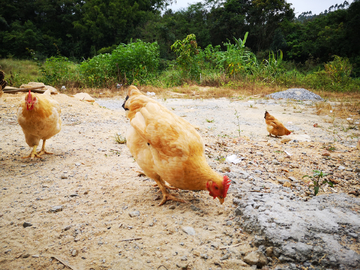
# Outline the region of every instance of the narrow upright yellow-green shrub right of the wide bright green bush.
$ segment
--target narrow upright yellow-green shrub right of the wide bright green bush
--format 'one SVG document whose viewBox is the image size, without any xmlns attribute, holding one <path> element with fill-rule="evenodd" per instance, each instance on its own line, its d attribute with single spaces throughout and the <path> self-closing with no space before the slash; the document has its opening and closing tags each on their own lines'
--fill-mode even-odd
<svg viewBox="0 0 360 270">
<path fill-rule="evenodd" d="M 197 46 L 196 36 L 188 35 L 183 40 L 177 40 L 171 49 L 176 53 L 176 62 L 183 78 L 193 80 L 200 79 L 200 57 L 198 57 L 200 48 Z"/>
</svg>

